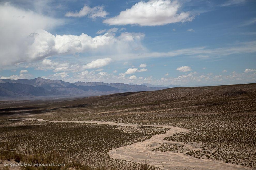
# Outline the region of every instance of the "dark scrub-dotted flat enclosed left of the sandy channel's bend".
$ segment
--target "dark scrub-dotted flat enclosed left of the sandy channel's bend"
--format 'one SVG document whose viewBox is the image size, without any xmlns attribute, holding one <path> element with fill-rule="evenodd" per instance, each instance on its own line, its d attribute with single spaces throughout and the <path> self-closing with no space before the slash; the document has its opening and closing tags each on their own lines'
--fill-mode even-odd
<svg viewBox="0 0 256 170">
<path fill-rule="evenodd" d="M 146 140 L 167 130 L 147 126 L 138 126 L 137 129 L 122 127 L 119 130 L 120 127 L 113 125 L 20 120 L 2 120 L 0 125 L 1 140 L 11 143 L 11 146 L 3 143 L 2 146 L 7 147 L 2 147 L 2 160 L 35 163 L 52 163 L 50 160 L 56 160 L 68 167 L 77 165 L 77 169 L 138 169 L 139 163 L 112 159 L 108 151 Z M 5 150 L 16 151 L 6 154 Z M 20 158 L 16 159 L 16 156 Z"/>
</svg>

